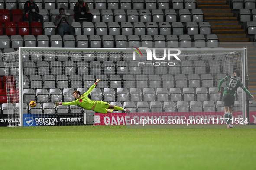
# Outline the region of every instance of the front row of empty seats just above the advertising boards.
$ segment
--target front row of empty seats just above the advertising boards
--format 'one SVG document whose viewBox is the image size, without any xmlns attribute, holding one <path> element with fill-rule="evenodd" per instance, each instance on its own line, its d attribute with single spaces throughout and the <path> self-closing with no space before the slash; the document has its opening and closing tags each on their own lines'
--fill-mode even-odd
<svg viewBox="0 0 256 170">
<path fill-rule="evenodd" d="M 256 102 L 250 101 L 250 111 L 256 110 Z M 123 107 L 130 110 L 132 113 L 145 113 L 145 112 L 223 112 L 223 101 L 125 101 L 125 102 L 110 102 L 112 105 Z M 9 109 L 9 110 L 8 110 Z M 8 111 L 7 111 L 8 110 Z M 19 113 L 19 103 L 3 103 L 1 107 L 2 114 L 7 114 L 8 112 Z M 28 107 L 26 103 L 23 103 L 24 113 L 31 114 L 55 114 L 55 113 L 82 113 L 92 112 L 89 110 L 83 110 L 78 106 L 58 106 L 55 107 L 52 102 L 40 102 L 36 104 L 36 107 Z M 241 101 L 235 101 L 234 111 L 241 111 Z M 113 113 L 120 113 L 121 111 L 113 111 Z"/>
</svg>

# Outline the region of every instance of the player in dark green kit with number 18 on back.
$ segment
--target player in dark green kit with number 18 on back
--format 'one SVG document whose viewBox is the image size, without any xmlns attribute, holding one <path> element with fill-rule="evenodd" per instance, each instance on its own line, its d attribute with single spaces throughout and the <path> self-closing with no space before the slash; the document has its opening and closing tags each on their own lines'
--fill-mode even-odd
<svg viewBox="0 0 256 170">
<path fill-rule="evenodd" d="M 221 94 L 220 88 L 223 82 L 227 82 L 226 87 L 224 88 L 223 91 L 223 106 L 224 106 L 224 116 L 227 121 L 227 128 L 232 128 L 234 127 L 233 125 L 230 125 L 231 119 L 232 119 L 232 110 L 235 104 L 235 98 L 236 98 L 236 91 L 237 88 L 241 87 L 243 91 L 246 92 L 247 95 L 250 96 L 250 98 L 254 99 L 253 95 L 250 94 L 250 92 L 243 86 L 243 83 L 239 79 L 240 77 L 240 71 L 236 70 L 234 72 L 233 76 L 226 76 L 223 79 L 220 80 L 219 82 L 219 87 L 218 87 L 218 93 Z"/>
</svg>

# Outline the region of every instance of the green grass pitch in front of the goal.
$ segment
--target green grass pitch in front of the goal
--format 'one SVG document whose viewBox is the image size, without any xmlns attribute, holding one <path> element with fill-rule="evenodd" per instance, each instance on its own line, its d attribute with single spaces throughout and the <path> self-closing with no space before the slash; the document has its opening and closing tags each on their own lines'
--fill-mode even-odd
<svg viewBox="0 0 256 170">
<path fill-rule="evenodd" d="M 255 170 L 255 142 L 256 129 L 0 127 L 0 169 Z"/>
</svg>

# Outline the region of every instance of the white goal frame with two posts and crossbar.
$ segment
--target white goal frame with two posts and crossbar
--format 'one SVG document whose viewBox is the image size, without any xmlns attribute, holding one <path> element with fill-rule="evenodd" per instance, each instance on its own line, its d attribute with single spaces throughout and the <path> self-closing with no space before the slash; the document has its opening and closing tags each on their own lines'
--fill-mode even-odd
<svg viewBox="0 0 256 170">
<path fill-rule="evenodd" d="M 242 82 L 245 85 L 246 83 L 246 50 L 247 48 L 175 48 L 180 50 L 181 52 L 233 52 L 237 51 L 241 53 L 241 69 L 244 70 L 241 74 Z M 38 47 L 19 47 L 19 89 L 23 89 L 23 51 L 33 50 L 33 51 L 116 51 L 116 52 L 131 52 L 134 51 L 131 48 L 38 48 Z M 157 49 L 156 49 L 157 50 Z M 161 50 L 161 48 L 159 48 Z M 246 118 L 246 93 L 242 91 L 242 112 L 243 112 L 243 120 Z M 19 126 L 23 126 L 23 91 L 19 91 Z M 245 123 L 244 123 L 245 124 Z"/>
</svg>

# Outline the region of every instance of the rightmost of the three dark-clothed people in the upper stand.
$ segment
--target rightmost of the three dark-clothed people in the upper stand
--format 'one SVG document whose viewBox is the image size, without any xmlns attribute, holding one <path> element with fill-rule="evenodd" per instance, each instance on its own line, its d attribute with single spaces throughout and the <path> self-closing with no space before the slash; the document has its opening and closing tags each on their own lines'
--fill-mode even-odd
<svg viewBox="0 0 256 170">
<path fill-rule="evenodd" d="M 75 22 L 79 22 L 80 18 L 87 19 L 88 22 L 92 22 L 92 14 L 89 12 L 89 6 L 84 0 L 78 0 L 74 6 L 74 18 Z"/>
</svg>

